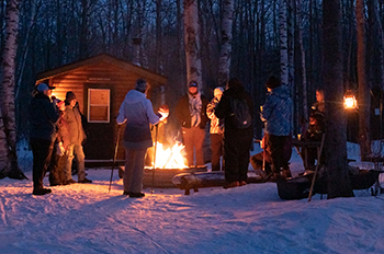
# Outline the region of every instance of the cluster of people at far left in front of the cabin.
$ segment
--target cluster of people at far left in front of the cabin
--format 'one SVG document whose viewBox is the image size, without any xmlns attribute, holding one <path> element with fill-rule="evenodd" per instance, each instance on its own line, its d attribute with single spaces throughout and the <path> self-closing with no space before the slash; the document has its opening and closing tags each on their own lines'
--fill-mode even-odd
<svg viewBox="0 0 384 254">
<path fill-rule="evenodd" d="M 52 193 L 43 180 L 49 171 L 49 185 L 92 183 L 86 177 L 82 141 L 86 139 L 76 95 L 69 91 L 66 100 L 52 95 L 54 86 L 36 85 L 30 104 L 30 145 L 33 153 L 33 195 Z M 76 158 L 78 181 L 72 178 Z"/>
</svg>

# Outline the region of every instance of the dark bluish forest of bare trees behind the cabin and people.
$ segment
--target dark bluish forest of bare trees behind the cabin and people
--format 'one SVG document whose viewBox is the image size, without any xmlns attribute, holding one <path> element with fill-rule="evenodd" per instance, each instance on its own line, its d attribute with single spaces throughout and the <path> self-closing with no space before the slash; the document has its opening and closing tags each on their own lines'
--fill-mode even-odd
<svg viewBox="0 0 384 254">
<path fill-rule="evenodd" d="M 140 66 L 169 78 L 166 94 L 172 107 L 172 102 L 187 90 L 185 49 L 190 45 L 185 44 L 183 18 L 192 4 L 196 4 L 199 18 L 200 89 L 212 96 L 213 89 L 223 85 L 219 58 L 223 39 L 226 39 L 223 37 L 223 19 L 228 2 L 233 4 L 228 78 L 237 77 L 244 82 L 253 99 L 256 112 L 263 103 L 264 81 L 271 74 L 280 76 L 283 84 L 291 89 L 295 103 L 295 132 L 302 131 L 302 119 L 307 118 L 308 105 L 315 101 L 318 88 L 325 86 L 326 96 L 332 99 L 335 94 L 337 100 L 342 91 L 360 89 L 358 100 L 363 114 L 371 105 L 366 94 L 372 92 L 374 95 L 375 88 L 382 91 L 383 0 L 1 0 L 1 53 L 8 49 L 4 46 L 7 36 L 12 35 L 7 33 L 7 19 L 18 23 L 14 26 L 18 33 L 13 33 L 18 35 L 14 93 L 1 95 L 5 130 L 7 119 L 11 118 L 4 115 L 4 107 L 12 104 L 8 100 L 13 99 L 7 95 L 14 94 L 15 135 L 18 138 L 27 135 L 23 117 L 38 72 L 102 53 L 133 61 L 135 38 L 142 42 Z M 7 3 L 20 11 L 16 20 L 9 18 Z M 9 59 L 2 59 L 1 76 L 5 73 Z M 331 77 L 335 88 L 331 88 Z M 9 91 L 4 89 L 8 77 L 0 78 L 3 80 L 2 92 Z M 337 129 L 327 139 L 337 139 L 345 151 L 345 138 L 336 138 L 345 130 L 343 115 L 334 114 L 334 111 L 329 114 L 329 119 L 341 124 L 327 123 L 328 130 Z M 370 114 L 365 115 L 369 119 Z M 360 122 L 359 131 L 365 128 L 361 128 Z M 335 127 L 337 124 L 341 127 Z M 257 119 L 257 137 L 261 136 L 261 128 L 262 124 Z M 342 164 L 346 161 L 345 158 Z"/>
</svg>

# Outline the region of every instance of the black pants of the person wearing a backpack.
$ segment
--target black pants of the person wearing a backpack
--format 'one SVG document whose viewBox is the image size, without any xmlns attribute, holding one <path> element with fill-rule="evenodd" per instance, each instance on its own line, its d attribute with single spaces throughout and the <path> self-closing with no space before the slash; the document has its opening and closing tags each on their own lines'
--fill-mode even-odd
<svg viewBox="0 0 384 254">
<path fill-rule="evenodd" d="M 227 131 L 227 130 L 226 130 Z M 225 135 L 225 181 L 247 181 L 251 131 L 236 131 Z"/>
</svg>

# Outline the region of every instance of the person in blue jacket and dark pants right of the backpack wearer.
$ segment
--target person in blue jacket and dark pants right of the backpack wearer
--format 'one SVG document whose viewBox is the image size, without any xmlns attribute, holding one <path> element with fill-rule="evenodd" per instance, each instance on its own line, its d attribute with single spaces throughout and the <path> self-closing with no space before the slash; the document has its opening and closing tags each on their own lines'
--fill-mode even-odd
<svg viewBox="0 0 384 254">
<path fill-rule="evenodd" d="M 270 149 L 272 160 L 272 172 L 274 180 L 291 177 L 289 166 L 290 155 L 286 157 L 284 147 L 292 142 L 292 99 L 286 86 L 274 76 L 271 76 L 266 86 L 268 90 L 266 103 L 262 106 L 260 118 L 266 124 L 264 135 L 268 137 L 267 146 Z M 291 146 L 292 147 L 292 146 Z M 281 176 L 281 173 L 283 174 Z"/>
</svg>

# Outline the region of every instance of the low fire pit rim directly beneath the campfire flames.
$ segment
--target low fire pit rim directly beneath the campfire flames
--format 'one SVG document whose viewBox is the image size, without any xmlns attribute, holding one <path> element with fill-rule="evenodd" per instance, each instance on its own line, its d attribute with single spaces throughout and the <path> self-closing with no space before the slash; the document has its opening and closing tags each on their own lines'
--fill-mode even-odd
<svg viewBox="0 0 384 254">
<path fill-rule="evenodd" d="M 144 169 L 143 187 L 155 188 L 176 188 L 172 183 L 174 175 L 180 173 L 205 172 L 206 166 L 185 168 L 185 169 Z"/>
</svg>

